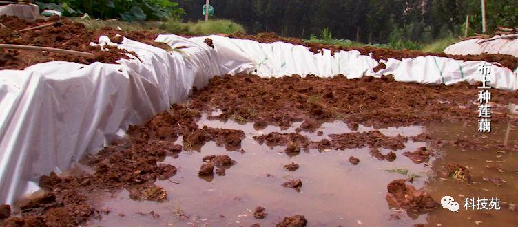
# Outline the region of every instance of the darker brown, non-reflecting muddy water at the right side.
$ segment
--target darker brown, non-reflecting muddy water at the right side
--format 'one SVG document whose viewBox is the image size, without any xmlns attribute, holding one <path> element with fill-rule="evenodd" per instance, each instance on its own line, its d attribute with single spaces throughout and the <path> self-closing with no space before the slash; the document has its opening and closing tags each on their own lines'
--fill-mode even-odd
<svg viewBox="0 0 518 227">
<path fill-rule="evenodd" d="M 475 125 L 448 124 L 427 127 L 433 138 L 456 139 L 479 134 Z M 447 129 L 447 130 L 446 130 Z M 486 133 L 484 144 L 514 144 L 518 141 L 516 125 L 493 125 L 492 133 Z M 506 133 L 508 132 L 508 133 Z M 507 134 L 507 136 L 506 136 Z M 458 147 L 442 148 L 444 158 L 437 160 L 433 169 L 440 169 L 448 163 L 467 166 L 473 182 L 466 184 L 455 180 L 432 177 L 428 183 L 430 193 L 435 199 L 444 195 L 452 196 L 461 204 L 459 213 L 439 209 L 428 216 L 430 226 L 518 226 L 518 213 L 512 212 L 501 203 L 501 210 L 473 210 L 464 208 L 464 199 L 477 197 L 498 197 L 502 202 L 518 204 L 518 153 L 496 148 L 484 148 L 478 151 L 462 151 Z M 490 178 L 505 182 L 486 181 Z M 497 185 L 501 184 L 501 185 Z"/>
</svg>

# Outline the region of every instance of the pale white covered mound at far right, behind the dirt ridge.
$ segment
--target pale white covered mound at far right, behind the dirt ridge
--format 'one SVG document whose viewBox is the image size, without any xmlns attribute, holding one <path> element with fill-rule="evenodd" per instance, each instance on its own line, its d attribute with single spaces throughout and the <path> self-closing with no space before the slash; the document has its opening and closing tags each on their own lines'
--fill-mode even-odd
<svg viewBox="0 0 518 227">
<path fill-rule="evenodd" d="M 467 39 L 450 45 L 444 49 L 446 54 L 509 54 L 518 58 L 518 38 L 505 39 L 505 36 L 494 36 L 490 41 L 485 39 Z"/>
</svg>

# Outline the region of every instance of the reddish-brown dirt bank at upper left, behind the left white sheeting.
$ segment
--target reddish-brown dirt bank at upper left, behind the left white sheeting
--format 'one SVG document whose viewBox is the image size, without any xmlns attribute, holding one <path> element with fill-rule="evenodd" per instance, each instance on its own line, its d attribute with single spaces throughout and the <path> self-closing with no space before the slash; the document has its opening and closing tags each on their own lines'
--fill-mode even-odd
<svg viewBox="0 0 518 227">
<path fill-rule="evenodd" d="M 112 38 L 115 34 L 121 34 L 129 39 L 134 39 L 149 45 L 169 48 L 165 43 L 155 43 L 157 34 L 149 31 L 123 32 L 112 28 L 101 30 L 87 30 L 85 25 L 74 23 L 68 19 L 50 17 L 48 20 L 38 19 L 28 22 L 17 17 L 0 17 L 0 23 L 7 28 L 0 30 L 0 43 L 30 45 L 42 47 L 54 47 L 65 50 L 76 50 L 94 54 L 93 58 L 62 54 L 56 52 L 42 52 L 33 50 L 0 50 L 0 70 L 25 69 L 30 65 L 49 61 L 70 61 L 75 63 L 90 64 L 94 62 L 115 63 L 118 59 L 129 58 L 125 53 L 136 54 L 111 47 L 109 51 L 102 51 L 101 47 L 91 47 L 90 42 L 97 43 L 99 36 L 106 35 Z M 20 32 L 25 28 L 33 28 L 39 25 L 55 23 L 48 27 Z"/>
</svg>

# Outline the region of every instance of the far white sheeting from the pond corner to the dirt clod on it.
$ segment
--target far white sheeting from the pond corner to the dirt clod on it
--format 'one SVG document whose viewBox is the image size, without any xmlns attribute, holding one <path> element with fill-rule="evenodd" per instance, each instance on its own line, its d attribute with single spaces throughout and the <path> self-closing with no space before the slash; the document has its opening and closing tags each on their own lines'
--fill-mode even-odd
<svg viewBox="0 0 518 227">
<path fill-rule="evenodd" d="M 160 36 L 157 40 L 167 43 L 165 37 Z M 282 42 L 258 43 L 222 36 L 194 37 L 191 40 L 202 42 L 207 37 L 212 39 L 220 63 L 231 69 L 229 72 L 245 69 L 262 77 L 292 74 L 330 77 L 344 74 L 347 78 L 360 78 L 365 74 L 374 74 L 373 68 L 377 66 L 377 61 L 360 55 L 356 50 L 335 53 L 332 56 L 329 50 L 324 50 L 324 54 L 313 54 L 302 45 Z"/>
</svg>

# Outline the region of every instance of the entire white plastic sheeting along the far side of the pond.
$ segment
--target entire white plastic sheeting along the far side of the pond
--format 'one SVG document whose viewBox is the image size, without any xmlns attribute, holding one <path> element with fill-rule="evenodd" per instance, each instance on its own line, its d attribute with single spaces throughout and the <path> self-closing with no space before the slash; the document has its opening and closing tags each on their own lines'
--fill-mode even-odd
<svg viewBox="0 0 518 227">
<path fill-rule="evenodd" d="M 158 37 L 157 40 L 167 43 L 165 37 L 167 36 Z M 341 51 L 332 56 L 329 50 L 324 50 L 323 54 L 313 54 L 306 47 L 281 42 L 267 44 L 222 36 L 194 37 L 191 40 L 201 42 L 207 37 L 212 39 L 222 65 L 227 65 L 227 68 L 247 69 L 264 77 L 291 74 L 329 77 L 344 74 L 347 78 L 360 78 L 365 75 L 380 77 L 392 74 L 395 80 L 402 82 L 450 85 L 464 80 L 481 81 L 478 70 L 481 64 L 486 63 L 436 56 L 402 60 L 391 58 L 383 61 L 386 69 L 374 72 L 373 68 L 378 62 L 370 56 L 360 55 L 356 50 Z M 506 67 L 499 67 L 499 63 L 493 65 L 492 82 L 488 84 L 497 89 L 518 89 L 516 69 L 513 72 Z"/>
</svg>

